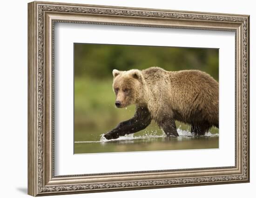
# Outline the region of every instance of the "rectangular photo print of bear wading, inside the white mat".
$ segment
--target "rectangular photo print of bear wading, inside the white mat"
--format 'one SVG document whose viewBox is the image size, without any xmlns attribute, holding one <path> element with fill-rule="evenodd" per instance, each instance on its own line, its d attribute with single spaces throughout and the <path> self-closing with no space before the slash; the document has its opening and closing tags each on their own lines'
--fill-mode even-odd
<svg viewBox="0 0 256 198">
<path fill-rule="evenodd" d="M 74 154 L 219 148 L 219 49 L 74 43 Z"/>
</svg>

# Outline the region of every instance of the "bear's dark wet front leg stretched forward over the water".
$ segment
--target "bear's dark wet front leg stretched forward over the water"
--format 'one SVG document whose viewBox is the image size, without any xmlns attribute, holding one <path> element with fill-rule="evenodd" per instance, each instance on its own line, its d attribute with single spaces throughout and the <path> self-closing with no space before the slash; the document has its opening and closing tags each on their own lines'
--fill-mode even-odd
<svg viewBox="0 0 256 198">
<path fill-rule="evenodd" d="M 133 134 L 148 127 L 151 122 L 151 115 L 146 107 L 136 107 L 133 118 L 120 122 L 116 128 L 109 131 L 104 137 L 108 140 L 116 139 L 125 134 Z"/>
</svg>

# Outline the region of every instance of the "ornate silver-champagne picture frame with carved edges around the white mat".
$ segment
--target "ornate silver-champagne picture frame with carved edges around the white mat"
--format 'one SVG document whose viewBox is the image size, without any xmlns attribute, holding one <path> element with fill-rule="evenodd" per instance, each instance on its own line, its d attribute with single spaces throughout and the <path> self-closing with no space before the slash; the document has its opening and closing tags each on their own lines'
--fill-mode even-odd
<svg viewBox="0 0 256 198">
<path fill-rule="evenodd" d="M 235 166 L 54 176 L 54 22 L 236 33 Z M 28 4 L 28 194 L 249 182 L 249 16 L 52 2 Z"/>
</svg>

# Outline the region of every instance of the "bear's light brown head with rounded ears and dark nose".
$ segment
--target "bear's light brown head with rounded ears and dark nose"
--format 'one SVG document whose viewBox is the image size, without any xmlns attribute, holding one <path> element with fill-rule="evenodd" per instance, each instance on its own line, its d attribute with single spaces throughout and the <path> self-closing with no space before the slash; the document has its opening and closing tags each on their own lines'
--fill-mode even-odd
<svg viewBox="0 0 256 198">
<path fill-rule="evenodd" d="M 145 80 L 140 70 L 113 70 L 113 77 L 116 107 L 123 108 L 143 101 Z"/>
</svg>

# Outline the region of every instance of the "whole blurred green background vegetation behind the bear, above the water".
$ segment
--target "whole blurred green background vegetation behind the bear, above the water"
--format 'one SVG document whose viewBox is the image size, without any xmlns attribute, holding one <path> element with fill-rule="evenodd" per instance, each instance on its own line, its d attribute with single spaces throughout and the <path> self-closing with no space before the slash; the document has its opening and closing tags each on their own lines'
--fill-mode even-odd
<svg viewBox="0 0 256 198">
<path fill-rule="evenodd" d="M 99 141 L 120 122 L 134 115 L 135 107 L 115 108 L 112 70 L 202 70 L 218 81 L 218 49 L 162 46 L 74 44 L 74 141 Z M 182 129 L 189 126 L 182 123 Z M 154 122 L 136 133 L 160 133 Z M 211 133 L 218 133 L 212 128 Z"/>
</svg>

